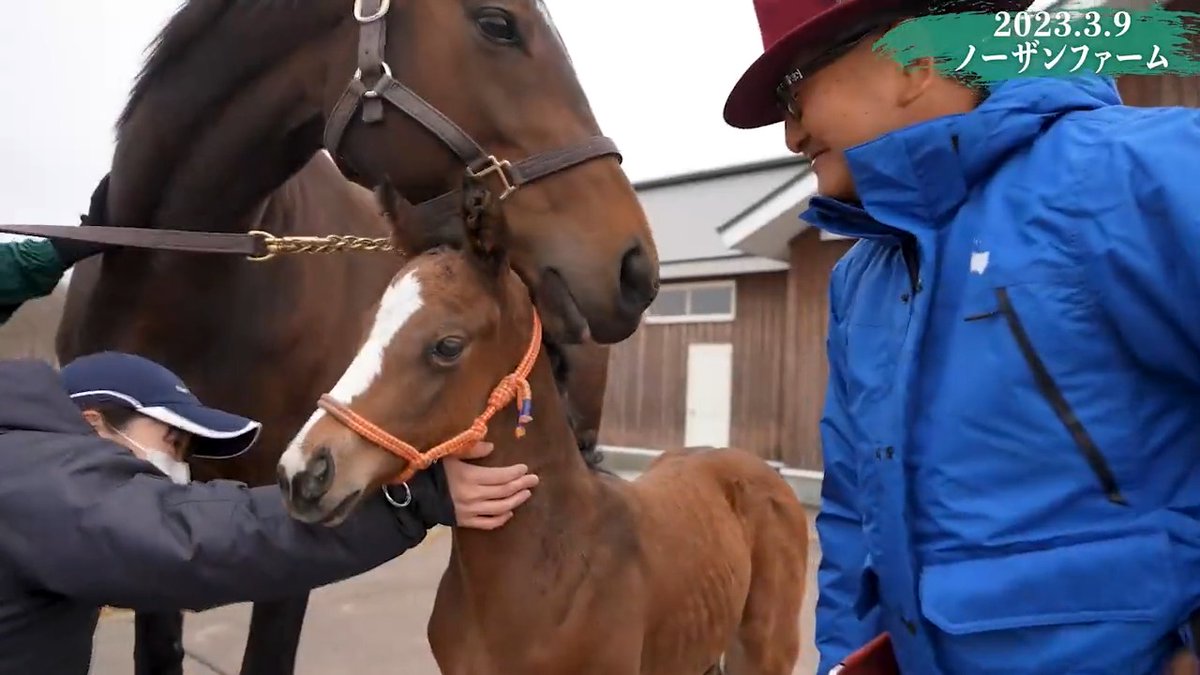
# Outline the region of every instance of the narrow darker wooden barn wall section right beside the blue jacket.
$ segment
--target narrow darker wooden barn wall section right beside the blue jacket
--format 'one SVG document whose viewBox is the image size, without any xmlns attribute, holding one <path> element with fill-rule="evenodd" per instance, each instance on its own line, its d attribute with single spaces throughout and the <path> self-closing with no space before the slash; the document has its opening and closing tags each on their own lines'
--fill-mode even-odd
<svg viewBox="0 0 1200 675">
<path fill-rule="evenodd" d="M 822 241 L 815 228 L 792 240 L 787 280 L 787 328 L 784 370 L 787 386 L 781 400 L 786 438 L 781 460 L 796 468 L 821 471 L 821 408 L 824 405 L 826 335 L 829 322 L 829 273 L 853 245 L 850 240 Z"/>
</svg>

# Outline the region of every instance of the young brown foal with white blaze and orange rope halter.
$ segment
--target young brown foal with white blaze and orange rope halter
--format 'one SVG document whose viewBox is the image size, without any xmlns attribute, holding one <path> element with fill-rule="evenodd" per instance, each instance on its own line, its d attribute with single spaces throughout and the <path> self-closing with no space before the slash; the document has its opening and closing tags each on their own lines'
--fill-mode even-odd
<svg viewBox="0 0 1200 675">
<path fill-rule="evenodd" d="M 420 250 L 389 193 L 398 243 Z M 529 291 L 509 270 L 504 219 L 466 220 L 467 252 L 422 253 L 391 281 L 358 356 L 283 454 L 292 514 L 335 525 L 383 485 L 402 500 L 406 458 L 486 434 L 486 464 L 526 462 L 541 482 L 504 527 L 454 531 L 428 626 L 443 673 L 791 674 L 808 521 L 788 484 L 728 448 L 668 452 L 634 482 L 588 471 Z M 522 382 L 532 419 L 517 437 Z M 490 432 L 460 436 L 493 412 Z"/>
</svg>

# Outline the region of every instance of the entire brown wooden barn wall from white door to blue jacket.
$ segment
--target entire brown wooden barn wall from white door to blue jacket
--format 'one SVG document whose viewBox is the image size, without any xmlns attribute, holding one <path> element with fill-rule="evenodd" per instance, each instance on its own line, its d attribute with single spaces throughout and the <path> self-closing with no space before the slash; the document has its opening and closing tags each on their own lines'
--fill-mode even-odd
<svg viewBox="0 0 1200 675">
<path fill-rule="evenodd" d="M 828 364 L 829 273 L 852 241 L 810 229 L 792 241 L 788 271 L 737 276 L 728 323 L 643 323 L 614 345 L 600 442 L 670 448 L 684 442 L 688 345 L 733 345 L 730 441 L 797 468 L 821 470 Z"/>
</svg>

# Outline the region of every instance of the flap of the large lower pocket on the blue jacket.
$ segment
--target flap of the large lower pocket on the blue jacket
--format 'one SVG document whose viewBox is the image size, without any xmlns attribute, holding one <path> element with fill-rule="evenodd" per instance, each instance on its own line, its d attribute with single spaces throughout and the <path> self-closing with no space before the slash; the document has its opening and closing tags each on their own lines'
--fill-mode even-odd
<svg viewBox="0 0 1200 675">
<path fill-rule="evenodd" d="M 1165 533 L 1139 533 L 929 566 L 925 617 L 950 635 L 1092 622 L 1157 622 L 1177 595 Z"/>
</svg>

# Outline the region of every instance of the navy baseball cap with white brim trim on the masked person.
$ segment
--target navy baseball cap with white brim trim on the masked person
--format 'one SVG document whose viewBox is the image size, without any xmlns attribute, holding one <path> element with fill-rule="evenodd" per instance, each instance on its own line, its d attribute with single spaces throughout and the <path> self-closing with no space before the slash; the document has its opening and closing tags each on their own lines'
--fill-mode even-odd
<svg viewBox="0 0 1200 675">
<path fill-rule="evenodd" d="M 108 404 L 192 434 L 192 456 L 235 458 L 248 450 L 262 424 L 200 404 L 184 381 L 167 368 L 136 354 L 98 352 L 79 357 L 61 370 L 67 394 L 80 408 Z"/>
</svg>

